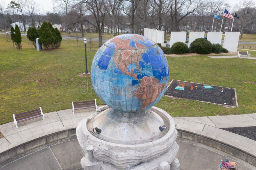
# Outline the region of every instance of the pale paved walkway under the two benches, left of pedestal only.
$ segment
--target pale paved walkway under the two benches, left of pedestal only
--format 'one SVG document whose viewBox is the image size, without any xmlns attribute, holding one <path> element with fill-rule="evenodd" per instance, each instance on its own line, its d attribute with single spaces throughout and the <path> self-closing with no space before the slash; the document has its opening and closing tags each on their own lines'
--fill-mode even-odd
<svg viewBox="0 0 256 170">
<path fill-rule="evenodd" d="M 44 114 L 42 117 L 18 123 L 18 128 L 13 122 L 0 125 L 0 153 L 6 148 L 22 144 L 37 137 L 45 136 L 65 129 L 76 128 L 77 124 L 95 113 L 95 108 L 75 110 L 60 110 Z"/>
</svg>

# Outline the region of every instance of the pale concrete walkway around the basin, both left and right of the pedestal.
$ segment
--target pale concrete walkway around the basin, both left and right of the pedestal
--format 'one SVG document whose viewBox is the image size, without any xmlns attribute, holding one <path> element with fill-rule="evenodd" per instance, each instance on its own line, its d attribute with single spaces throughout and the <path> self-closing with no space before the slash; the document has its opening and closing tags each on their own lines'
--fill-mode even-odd
<svg viewBox="0 0 256 170">
<path fill-rule="evenodd" d="M 81 120 L 94 113 L 95 109 L 93 108 L 76 110 L 75 114 L 72 113 L 72 109 L 67 109 L 46 113 L 45 120 L 39 117 L 18 123 L 18 128 L 15 127 L 13 122 L 0 125 L 0 131 L 4 135 L 0 139 L 0 153 L 38 137 L 76 128 Z M 256 141 L 220 129 L 256 126 L 256 113 L 227 116 L 173 117 L 173 119 L 177 123 L 177 129 L 223 141 L 235 148 L 256 155 Z"/>
</svg>

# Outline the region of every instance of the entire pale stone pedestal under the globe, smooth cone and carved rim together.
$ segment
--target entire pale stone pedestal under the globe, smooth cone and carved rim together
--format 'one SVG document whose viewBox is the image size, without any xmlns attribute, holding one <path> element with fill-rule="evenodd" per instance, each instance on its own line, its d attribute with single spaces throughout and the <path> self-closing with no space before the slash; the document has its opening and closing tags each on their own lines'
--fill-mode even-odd
<svg viewBox="0 0 256 170">
<path fill-rule="evenodd" d="M 83 153 L 85 153 L 81 159 L 81 165 L 84 169 L 102 168 L 103 170 L 112 170 L 115 168 L 129 168 L 150 170 L 161 169 L 161 166 L 166 165 L 164 162 L 168 162 L 172 170 L 179 169 L 180 164 L 176 159 L 179 148 L 176 143 L 177 130 L 172 117 L 168 113 L 157 107 L 152 107 L 143 113 L 148 116 L 148 119 L 139 120 L 140 114 L 138 114 L 132 116 L 137 117 L 133 121 L 127 121 L 126 115 L 116 113 L 119 114 L 118 121 L 121 120 L 121 124 L 114 124 L 114 126 L 107 123 L 114 123 L 118 116 L 111 116 L 108 113 L 111 113 L 111 108 L 87 120 L 82 120 L 77 125 L 77 140 L 82 147 Z M 146 128 L 153 129 L 154 133 L 151 133 L 151 130 L 143 130 L 143 127 L 139 126 L 141 121 L 146 123 L 144 124 Z M 93 134 L 92 128 L 96 125 L 98 128 L 102 128 L 102 135 L 101 133 Z M 159 126 L 163 125 L 167 129 L 161 132 Z M 127 130 L 135 128 L 136 134 L 130 134 L 133 132 L 127 131 L 129 134 L 127 133 L 127 138 L 124 138 L 124 132 L 126 133 L 124 126 Z M 121 130 L 117 131 L 117 129 Z M 104 130 L 107 132 L 103 133 Z M 119 132 L 121 133 L 119 134 L 120 137 L 115 138 L 115 134 L 118 135 Z M 143 133 L 145 137 L 141 135 Z M 138 137 L 136 138 L 137 135 Z M 130 140 L 128 137 L 131 137 Z M 122 142 L 122 138 L 125 139 L 125 142 Z M 142 138 L 141 141 L 140 138 Z"/>
</svg>

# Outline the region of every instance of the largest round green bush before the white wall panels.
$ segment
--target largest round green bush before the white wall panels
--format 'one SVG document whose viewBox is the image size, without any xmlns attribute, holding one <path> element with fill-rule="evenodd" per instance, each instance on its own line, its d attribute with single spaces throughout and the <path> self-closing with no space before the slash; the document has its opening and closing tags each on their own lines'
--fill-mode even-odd
<svg viewBox="0 0 256 170">
<path fill-rule="evenodd" d="M 198 38 L 190 44 L 190 48 L 196 54 L 210 54 L 212 43 L 204 38 Z"/>
</svg>

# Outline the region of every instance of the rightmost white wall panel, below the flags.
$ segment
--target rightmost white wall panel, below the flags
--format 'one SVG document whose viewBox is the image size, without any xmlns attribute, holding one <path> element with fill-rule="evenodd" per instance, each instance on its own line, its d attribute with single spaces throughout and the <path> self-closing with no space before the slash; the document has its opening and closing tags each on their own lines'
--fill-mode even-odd
<svg viewBox="0 0 256 170">
<path fill-rule="evenodd" d="M 239 35 L 240 32 L 225 32 L 223 48 L 226 48 L 228 51 L 231 52 L 236 52 L 239 41 Z"/>
</svg>

